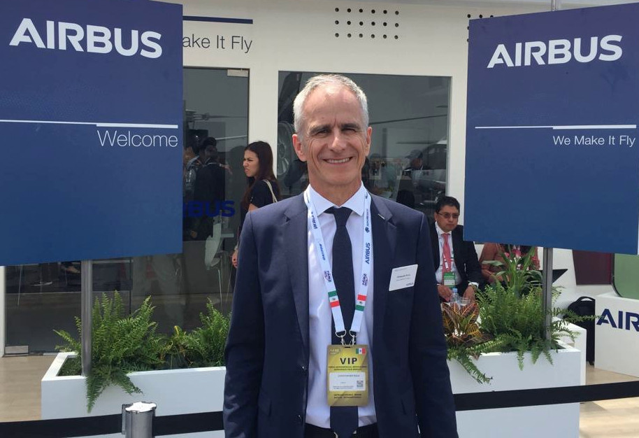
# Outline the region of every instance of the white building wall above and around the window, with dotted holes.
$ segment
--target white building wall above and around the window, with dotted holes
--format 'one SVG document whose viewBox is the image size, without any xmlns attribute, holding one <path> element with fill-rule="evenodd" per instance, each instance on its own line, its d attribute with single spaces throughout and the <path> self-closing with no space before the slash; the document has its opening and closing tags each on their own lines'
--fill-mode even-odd
<svg viewBox="0 0 639 438">
<path fill-rule="evenodd" d="M 210 38 L 212 47 L 185 48 L 185 66 L 234 67 L 250 70 L 249 141 L 277 143 L 278 71 L 380 73 L 451 78 L 448 192 L 464 204 L 466 141 L 466 66 L 468 15 L 510 15 L 548 10 L 548 4 L 521 6 L 420 6 L 344 1 L 211 2 L 189 0 L 184 15 L 249 18 L 253 24 L 185 22 L 184 35 Z M 352 13 L 345 12 L 352 8 Z M 336 12 L 339 8 L 340 12 Z M 359 13 L 359 8 L 364 13 Z M 375 14 L 371 10 L 375 9 Z M 388 13 L 384 15 L 382 11 Z M 395 11 L 399 15 L 395 15 Z M 339 25 L 335 21 L 340 22 Z M 352 20 L 350 27 L 346 20 Z M 364 27 L 359 27 L 359 21 Z M 375 21 L 375 27 L 370 23 Z M 383 27 L 382 22 L 388 26 Z M 395 23 L 399 27 L 395 27 Z M 345 38 L 354 29 L 353 38 Z M 359 38 L 364 29 L 364 38 Z M 340 34 L 336 38 L 335 34 Z M 375 38 L 370 35 L 375 34 Z M 389 38 L 382 38 L 387 34 Z M 227 47 L 215 47 L 217 35 Z M 250 50 L 231 50 L 229 38 L 251 40 Z M 399 39 L 394 39 L 394 36 Z M 416 90 L 418 91 L 418 90 Z M 463 213 L 463 212 L 462 212 Z"/>
</svg>

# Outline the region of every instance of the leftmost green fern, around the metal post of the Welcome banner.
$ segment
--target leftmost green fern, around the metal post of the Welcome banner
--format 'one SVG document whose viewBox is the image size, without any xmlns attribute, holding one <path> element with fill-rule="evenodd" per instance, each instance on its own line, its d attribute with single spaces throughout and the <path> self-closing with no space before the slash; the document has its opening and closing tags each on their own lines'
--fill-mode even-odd
<svg viewBox="0 0 639 438">
<path fill-rule="evenodd" d="M 94 303 L 92 312 L 92 351 L 91 369 L 87 376 L 87 408 L 90 412 L 96 399 L 110 385 L 120 386 L 127 393 L 141 393 L 127 376 L 128 372 L 157 369 L 161 367 L 159 359 L 161 337 L 156 334 L 157 323 L 151 320 L 153 307 L 150 297 L 144 300 L 139 309 L 125 315 L 122 297 L 115 292 L 113 299 L 103 294 L 101 300 Z M 76 317 L 78 338 L 82 334 L 82 323 Z M 80 352 L 76 365 L 81 363 L 80 341 L 64 330 L 56 330 L 66 344 L 57 346 L 60 351 Z M 69 369 L 67 369 L 69 370 Z"/>
</svg>

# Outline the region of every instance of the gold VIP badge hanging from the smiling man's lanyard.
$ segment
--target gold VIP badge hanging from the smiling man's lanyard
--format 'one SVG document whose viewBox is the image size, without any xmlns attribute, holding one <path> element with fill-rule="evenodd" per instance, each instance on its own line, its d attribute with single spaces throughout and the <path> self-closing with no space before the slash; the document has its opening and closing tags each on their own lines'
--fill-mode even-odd
<svg viewBox="0 0 639 438">
<path fill-rule="evenodd" d="M 326 354 L 329 406 L 368 404 L 368 346 L 329 345 Z"/>
</svg>

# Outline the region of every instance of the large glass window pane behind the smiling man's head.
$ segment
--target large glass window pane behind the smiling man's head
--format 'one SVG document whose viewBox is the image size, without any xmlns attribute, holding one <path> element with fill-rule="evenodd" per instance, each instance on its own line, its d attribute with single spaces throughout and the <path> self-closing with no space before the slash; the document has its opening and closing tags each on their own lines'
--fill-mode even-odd
<svg viewBox="0 0 639 438">
<path fill-rule="evenodd" d="M 292 196 L 308 185 L 306 164 L 292 148 L 292 103 L 317 73 L 280 71 L 278 99 L 278 180 Z M 373 127 L 371 154 L 362 181 L 371 192 L 424 211 L 432 217 L 447 183 L 450 78 L 350 74 L 368 98 Z"/>
</svg>

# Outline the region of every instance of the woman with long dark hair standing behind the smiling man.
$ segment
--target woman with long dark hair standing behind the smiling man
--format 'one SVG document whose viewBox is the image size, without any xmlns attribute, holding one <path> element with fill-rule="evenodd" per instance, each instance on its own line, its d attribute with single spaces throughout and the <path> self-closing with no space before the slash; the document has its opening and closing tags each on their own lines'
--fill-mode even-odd
<svg viewBox="0 0 639 438">
<path fill-rule="evenodd" d="M 244 149 L 244 173 L 247 188 L 240 204 L 240 227 L 238 245 L 246 214 L 280 199 L 280 185 L 273 174 L 273 152 L 266 141 L 254 141 Z M 238 246 L 235 247 L 231 262 L 238 267 Z"/>
</svg>

